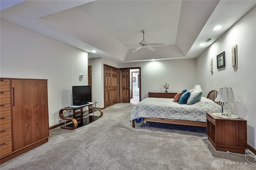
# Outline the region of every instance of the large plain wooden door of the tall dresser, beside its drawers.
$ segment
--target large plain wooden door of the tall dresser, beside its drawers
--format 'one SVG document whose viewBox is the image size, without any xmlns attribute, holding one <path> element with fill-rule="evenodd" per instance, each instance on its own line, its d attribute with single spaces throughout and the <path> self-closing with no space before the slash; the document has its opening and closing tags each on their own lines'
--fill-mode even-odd
<svg viewBox="0 0 256 170">
<path fill-rule="evenodd" d="M 47 80 L 12 79 L 13 150 L 48 138 Z"/>
</svg>

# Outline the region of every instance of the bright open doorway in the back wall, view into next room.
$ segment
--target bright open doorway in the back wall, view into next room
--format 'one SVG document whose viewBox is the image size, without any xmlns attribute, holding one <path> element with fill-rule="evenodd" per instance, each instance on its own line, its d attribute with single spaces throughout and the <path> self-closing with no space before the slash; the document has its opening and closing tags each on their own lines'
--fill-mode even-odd
<svg viewBox="0 0 256 170">
<path fill-rule="evenodd" d="M 130 103 L 140 102 L 140 69 L 130 69 Z"/>
</svg>

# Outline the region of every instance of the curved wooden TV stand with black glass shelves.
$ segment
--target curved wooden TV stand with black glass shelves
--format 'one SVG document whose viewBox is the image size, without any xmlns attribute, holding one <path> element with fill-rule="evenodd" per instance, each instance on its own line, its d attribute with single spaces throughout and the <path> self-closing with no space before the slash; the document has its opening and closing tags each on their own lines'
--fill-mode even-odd
<svg viewBox="0 0 256 170">
<path fill-rule="evenodd" d="M 98 118 L 102 117 L 103 111 L 101 109 L 96 109 L 97 102 L 90 102 L 86 105 L 81 106 L 70 106 L 60 109 L 60 118 L 65 121 L 65 125 L 60 128 L 73 130 L 77 127 L 81 127 L 96 121 Z M 94 108 L 92 107 L 94 105 Z M 88 106 L 87 111 L 83 111 L 83 107 Z M 68 116 L 67 112 L 73 110 L 73 115 Z M 66 117 L 63 115 L 63 111 L 66 111 Z M 94 112 L 100 111 L 100 116 L 95 116 Z"/>
</svg>

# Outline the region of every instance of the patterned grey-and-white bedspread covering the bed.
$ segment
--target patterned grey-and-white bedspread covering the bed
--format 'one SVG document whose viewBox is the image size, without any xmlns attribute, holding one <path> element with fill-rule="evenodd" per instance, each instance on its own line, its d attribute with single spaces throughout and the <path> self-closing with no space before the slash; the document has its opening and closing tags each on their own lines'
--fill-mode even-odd
<svg viewBox="0 0 256 170">
<path fill-rule="evenodd" d="M 130 121 L 147 117 L 206 122 L 206 112 L 220 113 L 222 107 L 205 97 L 192 105 L 181 105 L 168 98 L 148 97 L 134 106 Z"/>
</svg>

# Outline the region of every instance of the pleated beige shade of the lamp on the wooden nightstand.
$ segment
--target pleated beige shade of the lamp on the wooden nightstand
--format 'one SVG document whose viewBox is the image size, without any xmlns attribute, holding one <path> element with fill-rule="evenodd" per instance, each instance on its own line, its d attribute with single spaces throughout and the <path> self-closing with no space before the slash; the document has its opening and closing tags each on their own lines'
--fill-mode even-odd
<svg viewBox="0 0 256 170">
<path fill-rule="evenodd" d="M 220 87 L 219 94 L 216 97 L 215 101 L 221 101 L 223 103 L 225 103 L 225 102 L 231 102 L 231 103 L 239 102 L 239 100 L 236 98 L 236 96 L 233 93 L 232 87 Z"/>
</svg>

